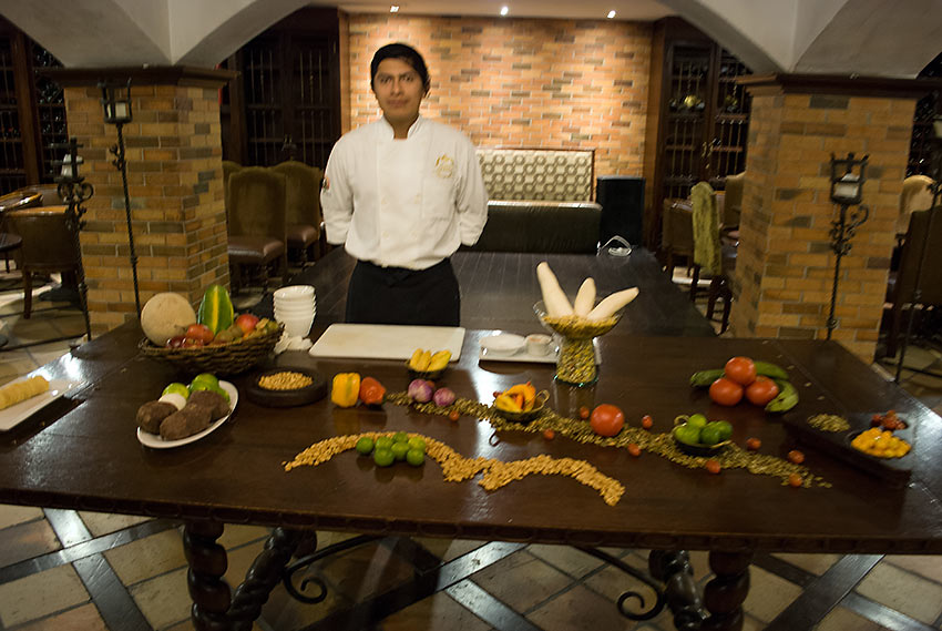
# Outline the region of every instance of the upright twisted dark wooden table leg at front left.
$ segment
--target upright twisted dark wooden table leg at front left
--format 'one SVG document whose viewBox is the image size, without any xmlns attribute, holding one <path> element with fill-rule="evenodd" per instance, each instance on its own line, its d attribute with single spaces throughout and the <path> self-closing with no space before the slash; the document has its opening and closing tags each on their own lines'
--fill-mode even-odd
<svg viewBox="0 0 942 631">
<path fill-rule="evenodd" d="M 186 584 L 193 608 L 190 618 L 196 631 L 228 631 L 229 586 L 226 549 L 216 543 L 223 533 L 217 521 L 187 521 L 183 529 L 183 550 L 190 563 Z"/>
</svg>

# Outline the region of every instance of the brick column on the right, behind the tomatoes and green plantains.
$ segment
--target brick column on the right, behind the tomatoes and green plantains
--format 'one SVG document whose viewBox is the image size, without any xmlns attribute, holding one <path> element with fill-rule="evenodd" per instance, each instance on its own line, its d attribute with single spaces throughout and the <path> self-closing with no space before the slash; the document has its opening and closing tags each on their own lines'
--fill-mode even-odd
<svg viewBox="0 0 942 631">
<path fill-rule="evenodd" d="M 870 155 L 870 217 L 841 259 L 832 338 L 873 359 L 905 177 L 915 100 L 910 80 L 777 75 L 743 81 L 752 94 L 740 242 L 737 336 L 825 338 L 833 282 L 830 154 Z"/>
</svg>

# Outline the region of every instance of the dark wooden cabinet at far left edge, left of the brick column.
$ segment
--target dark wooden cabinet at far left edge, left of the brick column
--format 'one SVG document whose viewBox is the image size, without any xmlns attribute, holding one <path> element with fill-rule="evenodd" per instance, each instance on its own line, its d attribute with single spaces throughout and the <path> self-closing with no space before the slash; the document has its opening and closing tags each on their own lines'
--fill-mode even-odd
<svg viewBox="0 0 942 631">
<path fill-rule="evenodd" d="M 60 67 L 49 51 L 0 18 L 0 194 L 52 182 L 52 161 L 68 140 L 65 99 L 39 72 Z"/>
</svg>

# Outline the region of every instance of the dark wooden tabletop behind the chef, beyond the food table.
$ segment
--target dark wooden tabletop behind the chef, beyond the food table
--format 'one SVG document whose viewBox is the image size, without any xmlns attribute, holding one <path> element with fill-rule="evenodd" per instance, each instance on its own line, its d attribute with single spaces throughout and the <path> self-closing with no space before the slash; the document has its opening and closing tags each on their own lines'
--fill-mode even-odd
<svg viewBox="0 0 942 631">
<path fill-rule="evenodd" d="M 603 253 L 525 254 L 513 252 L 458 252 L 452 256 L 461 287 L 461 326 L 533 333 L 533 304 L 541 299 L 536 265 L 546 261 L 560 285 L 574 297 L 586 277 L 593 277 L 600 296 L 637 287 L 638 297 L 625 313 L 614 335 L 713 336 L 713 326 L 694 308 L 661 268 L 654 255 L 635 248 L 629 256 Z M 289 284 L 314 285 L 317 291 L 317 324 L 344 322 L 347 283 L 356 259 L 342 248 L 332 250 L 313 266 L 295 275 Z M 272 295 L 253 311 L 270 316 Z"/>
</svg>

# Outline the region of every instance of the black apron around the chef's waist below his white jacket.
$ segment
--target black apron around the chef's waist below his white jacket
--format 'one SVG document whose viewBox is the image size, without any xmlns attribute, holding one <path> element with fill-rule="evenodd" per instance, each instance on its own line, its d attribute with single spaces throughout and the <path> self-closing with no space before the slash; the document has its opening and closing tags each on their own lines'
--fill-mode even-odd
<svg viewBox="0 0 942 631">
<path fill-rule="evenodd" d="M 347 287 L 348 323 L 458 326 L 461 294 L 451 261 L 427 269 L 358 261 Z"/>
</svg>

